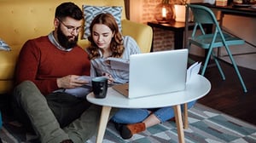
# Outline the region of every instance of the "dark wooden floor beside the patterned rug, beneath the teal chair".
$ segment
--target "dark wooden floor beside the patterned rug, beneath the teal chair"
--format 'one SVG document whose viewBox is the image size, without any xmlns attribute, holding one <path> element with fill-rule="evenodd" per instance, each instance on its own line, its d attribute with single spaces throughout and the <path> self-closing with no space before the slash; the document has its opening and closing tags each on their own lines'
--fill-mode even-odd
<svg viewBox="0 0 256 143">
<path fill-rule="evenodd" d="M 195 56 L 191 58 L 201 60 Z M 239 67 L 247 86 L 247 93 L 244 93 L 233 66 L 224 61 L 220 64 L 226 80 L 221 79 L 217 66 L 208 67 L 205 77 L 212 83 L 212 89 L 198 102 L 256 125 L 256 71 Z"/>
</svg>

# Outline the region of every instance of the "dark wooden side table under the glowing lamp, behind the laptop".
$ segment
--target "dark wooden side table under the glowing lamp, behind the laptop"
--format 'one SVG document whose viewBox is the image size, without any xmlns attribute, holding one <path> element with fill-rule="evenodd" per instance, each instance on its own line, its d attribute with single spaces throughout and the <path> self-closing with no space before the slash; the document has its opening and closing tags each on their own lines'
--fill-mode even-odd
<svg viewBox="0 0 256 143">
<path fill-rule="evenodd" d="M 151 26 L 152 29 L 154 28 L 160 28 L 166 31 L 174 31 L 174 49 L 183 49 L 183 31 L 185 31 L 185 22 L 177 22 L 177 21 L 170 21 L 169 23 L 159 23 L 157 21 L 149 21 L 148 26 Z M 212 26 L 211 25 L 204 25 L 205 28 L 207 28 L 207 33 L 212 32 Z M 188 26 L 189 30 L 192 30 L 194 28 L 193 23 L 189 23 Z M 154 38 L 153 38 L 154 39 Z M 152 42 L 151 50 L 150 52 L 154 51 L 154 40 Z"/>
</svg>

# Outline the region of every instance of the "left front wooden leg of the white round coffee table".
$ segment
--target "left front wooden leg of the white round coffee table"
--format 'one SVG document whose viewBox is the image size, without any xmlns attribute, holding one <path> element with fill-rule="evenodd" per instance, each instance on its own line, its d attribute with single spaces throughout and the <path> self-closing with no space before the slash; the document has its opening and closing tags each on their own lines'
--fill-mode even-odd
<svg viewBox="0 0 256 143">
<path fill-rule="evenodd" d="M 107 128 L 108 117 L 109 117 L 111 108 L 112 108 L 111 106 L 102 106 L 102 115 L 101 115 L 101 119 L 100 119 L 96 143 L 102 143 L 102 141 L 103 141 L 103 137 L 105 134 L 105 130 Z"/>
</svg>

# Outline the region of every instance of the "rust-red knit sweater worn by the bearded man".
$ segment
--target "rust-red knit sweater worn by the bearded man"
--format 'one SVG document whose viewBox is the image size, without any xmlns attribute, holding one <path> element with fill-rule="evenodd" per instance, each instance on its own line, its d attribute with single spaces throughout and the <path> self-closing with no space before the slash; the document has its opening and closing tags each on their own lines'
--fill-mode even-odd
<svg viewBox="0 0 256 143">
<path fill-rule="evenodd" d="M 20 50 L 16 83 L 30 80 L 46 95 L 58 89 L 56 78 L 67 75 L 90 75 L 90 60 L 80 47 L 66 52 L 57 49 L 49 38 L 27 41 Z"/>
</svg>

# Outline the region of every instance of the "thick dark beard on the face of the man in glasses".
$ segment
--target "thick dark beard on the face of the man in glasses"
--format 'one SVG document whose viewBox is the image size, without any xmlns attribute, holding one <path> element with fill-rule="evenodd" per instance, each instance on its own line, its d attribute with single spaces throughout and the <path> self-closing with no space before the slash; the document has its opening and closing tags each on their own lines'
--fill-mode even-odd
<svg viewBox="0 0 256 143">
<path fill-rule="evenodd" d="M 57 37 L 58 37 L 59 43 L 65 49 L 72 49 L 73 47 L 75 47 L 79 39 L 79 36 L 76 36 L 72 41 L 69 41 L 70 37 L 67 37 L 66 35 L 64 35 L 64 33 L 61 31 L 61 26 L 59 26 L 57 29 Z"/>
</svg>

